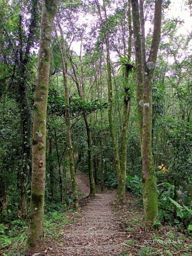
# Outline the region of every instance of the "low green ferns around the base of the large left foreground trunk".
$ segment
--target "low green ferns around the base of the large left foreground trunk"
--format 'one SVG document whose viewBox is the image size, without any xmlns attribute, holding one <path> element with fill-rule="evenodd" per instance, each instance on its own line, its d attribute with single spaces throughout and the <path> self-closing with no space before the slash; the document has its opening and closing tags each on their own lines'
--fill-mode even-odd
<svg viewBox="0 0 192 256">
<path fill-rule="evenodd" d="M 60 209 L 59 209 L 60 208 Z M 70 223 L 68 215 L 73 212 L 66 205 L 58 204 L 52 211 L 45 212 L 44 238 L 57 239 L 64 231 L 63 226 Z M 0 224 L 0 254 L 2 256 L 24 256 L 23 248 L 26 248 L 27 230 L 29 219 L 25 221 L 17 219 L 9 223 Z"/>
</svg>

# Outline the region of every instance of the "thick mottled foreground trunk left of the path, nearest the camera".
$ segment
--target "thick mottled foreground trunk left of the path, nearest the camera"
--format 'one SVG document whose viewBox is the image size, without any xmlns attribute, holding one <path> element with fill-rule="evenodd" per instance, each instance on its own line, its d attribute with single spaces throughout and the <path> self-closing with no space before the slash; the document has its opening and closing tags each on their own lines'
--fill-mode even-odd
<svg viewBox="0 0 192 256">
<path fill-rule="evenodd" d="M 46 115 L 49 89 L 50 44 L 52 23 L 58 0 L 42 1 L 38 77 L 34 102 L 31 211 L 27 243 L 32 250 L 43 247 Z"/>
</svg>

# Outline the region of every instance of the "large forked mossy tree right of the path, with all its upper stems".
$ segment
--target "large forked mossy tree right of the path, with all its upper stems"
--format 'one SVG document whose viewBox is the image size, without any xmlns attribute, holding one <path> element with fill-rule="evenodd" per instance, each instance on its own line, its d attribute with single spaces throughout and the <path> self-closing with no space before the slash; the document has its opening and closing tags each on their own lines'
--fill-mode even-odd
<svg viewBox="0 0 192 256">
<path fill-rule="evenodd" d="M 133 22 L 134 22 L 134 38 L 136 50 L 136 78 L 137 90 L 140 91 L 141 81 L 143 77 L 143 67 L 145 67 L 145 59 L 142 61 L 142 49 L 140 32 L 140 15 L 139 5 L 137 0 L 132 0 Z M 152 228 L 154 221 L 158 218 L 157 207 L 157 184 L 153 166 L 153 156 L 151 148 L 151 129 L 152 129 L 152 82 L 155 64 L 157 61 L 157 52 L 160 43 L 161 31 L 161 9 L 162 0 L 155 1 L 154 10 L 154 31 L 149 52 L 148 61 L 146 62 L 144 81 L 143 81 L 143 102 L 137 104 L 143 108 L 143 127 L 142 127 L 142 181 L 143 181 L 143 207 L 144 207 L 144 225 L 147 228 Z M 140 13 L 142 13 L 140 11 Z M 141 19 L 142 20 L 142 19 Z M 139 36 L 140 35 L 140 36 Z M 139 40 L 138 40 L 139 37 Z M 137 45 L 139 44 L 139 46 Z M 144 58 L 144 57 L 143 57 Z M 138 70 L 137 70 L 138 68 Z M 142 74 L 142 77 L 141 77 Z M 138 86 L 139 84 L 139 86 Z M 140 95 L 140 92 L 139 92 Z M 140 108 L 139 107 L 139 108 Z M 138 116 L 140 118 L 140 116 Z"/>
</svg>

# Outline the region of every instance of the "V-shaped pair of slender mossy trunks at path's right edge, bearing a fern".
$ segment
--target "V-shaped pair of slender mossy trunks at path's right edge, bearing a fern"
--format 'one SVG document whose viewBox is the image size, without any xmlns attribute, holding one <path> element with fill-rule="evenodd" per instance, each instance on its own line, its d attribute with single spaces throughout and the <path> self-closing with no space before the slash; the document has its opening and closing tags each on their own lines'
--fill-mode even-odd
<svg viewBox="0 0 192 256">
<path fill-rule="evenodd" d="M 113 123 L 113 84 L 112 84 L 112 68 L 111 68 L 111 59 L 110 59 L 110 42 L 109 42 L 109 19 L 107 17 L 106 11 L 106 3 L 103 0 L 103 11 L 104 17 L 102 18 L 101 7 L 98 0 L 95 0 L 100 20 L 102 21 L 102 29 L 105 38 L 105 44 L 107 48 L 107 72 L 108 72 L 108 120 L 109 120 L 109 128 L 111 133 L 111 139 L 113 143 L 113 154 L 115 160 L 115 167 L 118 177 L 118 200 L 120 203 L 125 203 L 125 184 L 126 184 L 126 166 L 127 166 L 127 124 L 128 124 L 128 116 L 130 113 L 130 96 L 129 96 L 129 88 L 128 88 L 128 74 L 131 71 L 132 67 L 128 64 L 125 64 L 124 70 L 124 104 L 123 104 L 123 125 L 122 125 L 122 136 L 121 136 L 121 145 L 120 145 L 120 152 L 118 150 L 118 144 L 116 142 L 116 134 L 114 129 Z M 128 6 L 128 21 L 129 21 L 129 40 L 128 40 L 128 53 L 131 54 L 131 16 L 130 16 L 130 9 L 131 6 Z M 122 29 L 123 30 L 123 29 Z M 122 33 L 123 34 L 123 33 Z M 124 38 L 124 34 L 122 36 Z M 126 45 L 123 41 L 124 53 L 126 52 Z M 130 68 L 130 69 L 129 69 Z M 130 104 L 129 104 L 130 103 Z M 129 105 L 129 108 L 128 108 Z"/>
</svg>

